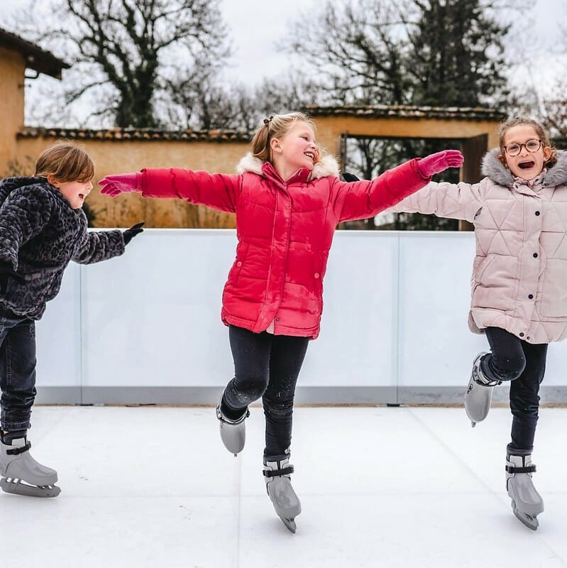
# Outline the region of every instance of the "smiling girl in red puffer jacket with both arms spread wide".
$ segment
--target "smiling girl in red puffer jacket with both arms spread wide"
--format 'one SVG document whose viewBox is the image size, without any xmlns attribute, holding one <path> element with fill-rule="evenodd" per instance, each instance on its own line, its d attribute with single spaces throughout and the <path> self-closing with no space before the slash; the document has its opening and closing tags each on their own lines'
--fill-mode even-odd
<svg viewBox="0 0 567 568">
<path fill-rule="evenodd" d="M 461 153 L 445 151 L 372 182 L 341 182 L 334 158 L 321 155 L 314 123 L 296 112 L 264 120 L 239 175 L 146 169 L 100 182 L 101 193 L 112 197 L 138 191 L 236 212 L 238 246 L 222 307 L 235 376 L 216 415 L 221 439 L 236 455 L 244 447 L 248 405 L 262 397 L 266 488 L 292 532 L 301 511 L 290 483 L 293 398 L 309 339 L 319 335 L 322 281 L 336 224 L 371 217 L 423 187 L 434 173 L 462 163 Z"/>
</svg>

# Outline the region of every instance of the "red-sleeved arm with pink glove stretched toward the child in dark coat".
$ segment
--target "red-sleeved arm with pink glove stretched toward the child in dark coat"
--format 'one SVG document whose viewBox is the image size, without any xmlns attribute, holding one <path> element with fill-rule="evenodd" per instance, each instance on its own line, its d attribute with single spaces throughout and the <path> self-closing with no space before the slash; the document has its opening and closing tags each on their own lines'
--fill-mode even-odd
<svg viewBox="0 0 567 568">
<path fill-rule="evenodd" d="M 116 197 L 139 192 L 144 197 L 177 197 L 226 212 L 236 211 L 241 176 L 182 168 L 147 168 L 141 172 L 108 175 L 100 180 L 101 194 Z"/>
</svg>

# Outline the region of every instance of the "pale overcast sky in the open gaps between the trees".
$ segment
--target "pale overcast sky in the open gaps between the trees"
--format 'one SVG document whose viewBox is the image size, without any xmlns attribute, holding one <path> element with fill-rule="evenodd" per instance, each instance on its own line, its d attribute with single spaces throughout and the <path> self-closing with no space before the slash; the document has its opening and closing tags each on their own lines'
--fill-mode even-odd
<svg viewBox="0 0 567 568">
<path fill-rule="evenodd" d="M 31 0 L 0 0 L 0 26 L 6 26 L 11 13 Z M 290 67 L 290 55 L 278 51 L 280 42 L 292 33 L 292 22 L 307 14 L 320 0 L 221 0 L 224 20 L 231 30 L 233 58 L 226 70 L 229 79 L 256 84 L 263 77 L 275 77 Z M 514 68 L 514 84 L 531 82 L 542 94 L 551 85 L 561 65 L 567 65 L 567 41 L 561 36 L 560 23 L 567 26 L 567 0 L 534 0 L 529 13 L 516 22 L 518 29 L 532 19 L 533 51 L 527 65 Z M 14 30 L 17 33 L 17 30 Z M 526 33 L 517 32 L 508 45 L 532 44 Z M 560 65 L 561 63 L 561 65 Z M 531 75 L 527 72 L 531 70 Z"/>
</svg>

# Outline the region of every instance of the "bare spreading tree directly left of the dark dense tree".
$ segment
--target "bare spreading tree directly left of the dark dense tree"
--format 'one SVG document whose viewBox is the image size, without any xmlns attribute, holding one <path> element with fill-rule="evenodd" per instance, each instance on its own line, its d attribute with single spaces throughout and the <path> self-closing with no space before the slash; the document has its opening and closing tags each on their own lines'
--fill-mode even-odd
<svg viewBox="0 0 567 568">
<path fill-rule="evenodd" d="M 310 64 L 331 102 L 409 102 L 407 33 L 393 0 L 327 0 L 293 27 L 289 49 Z"/>
</svg>

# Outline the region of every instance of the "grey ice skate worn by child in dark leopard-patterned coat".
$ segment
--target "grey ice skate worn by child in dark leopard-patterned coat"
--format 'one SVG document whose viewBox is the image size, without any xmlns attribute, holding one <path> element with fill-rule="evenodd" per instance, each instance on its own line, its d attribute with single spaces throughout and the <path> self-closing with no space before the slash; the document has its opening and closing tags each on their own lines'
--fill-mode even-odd
<svg viewBox="0 0 567 568">
<path fill-rule="evenodd" d="M 0 441 L 0 487 L 6 493 L 29 497 L 57 497 L 61 489 L 55 485 L 57 471 L 35 461 L 26 437 L 11 443 Z"/>
</svg>

